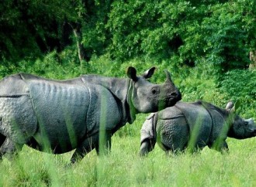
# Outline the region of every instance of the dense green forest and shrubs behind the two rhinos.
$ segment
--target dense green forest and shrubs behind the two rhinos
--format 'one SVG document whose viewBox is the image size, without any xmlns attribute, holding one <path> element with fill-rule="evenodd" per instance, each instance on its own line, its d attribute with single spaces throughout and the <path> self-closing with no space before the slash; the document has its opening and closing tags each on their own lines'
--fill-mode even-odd
<svg viewBox="0 0 256 187">
<path fill-rule="evenodd" d="M 241 100 L 256 117 L 255 1 L 2 0 L 0 12 L 1 77 L 157 66 L 153 81 L 170 70 L 183 100 Z"/>
</svg>

